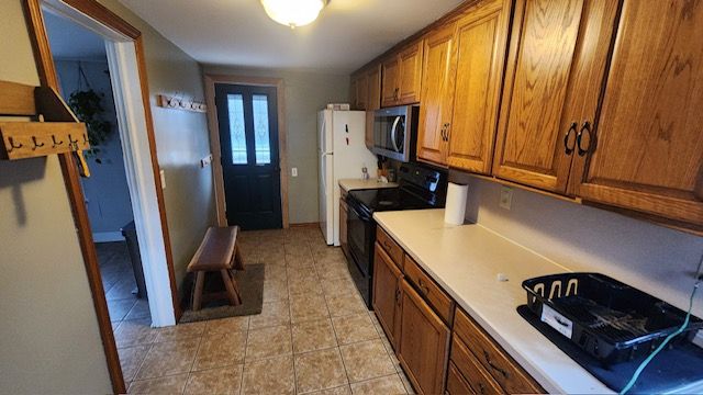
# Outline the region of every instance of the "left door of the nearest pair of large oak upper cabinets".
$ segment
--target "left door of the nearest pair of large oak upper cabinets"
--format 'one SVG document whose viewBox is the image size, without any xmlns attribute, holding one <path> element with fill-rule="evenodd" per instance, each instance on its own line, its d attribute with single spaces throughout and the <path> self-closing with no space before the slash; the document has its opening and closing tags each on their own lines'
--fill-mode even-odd
<svg viewBox="0 0 703 395">
<path fill-rule="evenodd" d="M 566 193 L 583 111 L 596 108 L 616 9 L 607 0 L 516 1 L 493 176 Z"/>
</svg>

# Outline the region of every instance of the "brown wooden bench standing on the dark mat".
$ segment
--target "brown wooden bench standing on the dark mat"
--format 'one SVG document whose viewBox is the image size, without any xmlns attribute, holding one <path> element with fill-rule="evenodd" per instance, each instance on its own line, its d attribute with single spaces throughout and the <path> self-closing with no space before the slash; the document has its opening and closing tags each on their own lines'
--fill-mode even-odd
<svg viewBox="0 0 703 395">
<path fill-rule="evenodd" d="M 188 272 L 196 273 L 192 293 L 192 309 L 200 309 L 203 301 L 230 300 L 233 306 L 242 304 L 242 297 L 234 280 L 234 270 L 244 270 L 244 261 L 237 246 L 238 226 L 210 227 L 198 251 L 188 263 Z M 207 272 L 220 272 L 225 291 L 203 295 Z"/>
</svg>

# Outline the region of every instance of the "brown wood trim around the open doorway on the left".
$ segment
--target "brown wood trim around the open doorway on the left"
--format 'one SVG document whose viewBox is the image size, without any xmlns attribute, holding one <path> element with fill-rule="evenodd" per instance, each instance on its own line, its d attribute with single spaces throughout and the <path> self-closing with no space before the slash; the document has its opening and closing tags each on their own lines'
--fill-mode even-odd
<svg viewBox="0 0 703 395">
<path fill-rule="evenodd" d="M 59 90 L 59 83 L 56 67 L 54 65 L 54 59 L 52 57 L 49 48 L 46 26 L 44 24 L 44 16 L 42 13 L 43 3 L 51 4 L 52 8 L 58 7 L 65 10 L 67 13 L 74 13 L 75 15 L 79 15 L 80 18 L 90 19 L 104 26 L 107 31 L 112 32 L 113 35 L 122 35 L 126 37 L 127 41 L 134 43 L 138 80 L 142 91 L 142 104 L 144 108 L 144 117 L 146 121 L 146 137 L 148 139 L 148 149 L 152 156 L 150 167 L 154 173 L 156 198 L 159 208 L 159 218 L 161 223 L 161 234 L 166 252 L 166 263 L 170 282 L 169 285 L 171 289 L 171 302 L 176 320 L 178 320 L 182 312 L 180 309 L 180 301 L 176 287 L 174 258 L 171 252 L 168 225 L 166 221 L 166 208 L 159 174 L 158 159 L 156 155 L 156 138 L 154 134 L 154 121 L 152 117 L 152 108 L 149 102 L 149 90 L 146 75 L 146 63 L 142 33 L 96 0 L 23 0 L 25 20 L 32 42 L 32 48 L 34 50 L 34 58 L 41 84 L 44 87 L 49 87 L 55 91 Z M 112 329 L 112 324 L 110 321 L 110 314 L 108 312 L 108 303 L 104 295 L 104 287 L 102 285 L 98 256 L 96 252 L 92 232 L 90 228 L 90 221 L 83 203 L 85 196 L 80 187 L 80 176 L 78 173 L 78 168 L 76 166 L 75 159 L 70 154 L 59 154 L 58 158 L 74 216 L 74 222 L 76 225 L 76 233 L 78 235 L 83 262 L 86 266 L 88 284 L 92 293 L 93 305 L 98 318 L 98 326 L 108 364 L 108 372 L 112 382 L 112 390 L 115 394 L 123 394 L 126 392 L 124 376 L 122 374 L 120 357 L 118 354 L 118 348 L 114 340 L 114 332 Z"/>
</svg>

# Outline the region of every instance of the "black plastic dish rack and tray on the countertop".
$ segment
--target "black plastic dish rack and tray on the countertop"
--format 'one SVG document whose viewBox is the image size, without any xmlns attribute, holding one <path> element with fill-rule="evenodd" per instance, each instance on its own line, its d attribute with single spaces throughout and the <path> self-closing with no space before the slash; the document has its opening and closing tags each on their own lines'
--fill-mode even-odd
<svg viewBox="0 0 703 395">
<path fill-rule="evenodd" d="M 563 326 L 562 335 L 605 364 L 648 354 L 685 318 L 680 308 L 604 274 L 544 275 L 523 281 L 523 289 L 537 317 L 551 317 L 553 327 Z M 703 320 L 692 316 L 672 342 L 691 341 L 701 328 Z"/>
</svg>

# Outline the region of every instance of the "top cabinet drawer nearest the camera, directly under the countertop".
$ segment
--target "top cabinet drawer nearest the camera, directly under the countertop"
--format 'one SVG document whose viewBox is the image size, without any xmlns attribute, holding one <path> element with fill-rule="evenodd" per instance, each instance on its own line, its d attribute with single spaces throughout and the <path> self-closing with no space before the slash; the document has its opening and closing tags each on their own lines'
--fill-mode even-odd
<svg viewBox="0 0 703 395">
<path fill-rule="evenodd" d="M 544 393 L 544 390 L 462 311 L 457 308 L 454 332 L 507 393 Z"/>
</svg>

